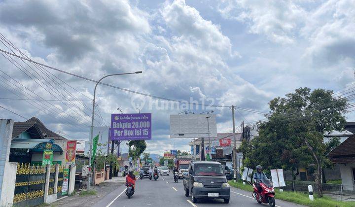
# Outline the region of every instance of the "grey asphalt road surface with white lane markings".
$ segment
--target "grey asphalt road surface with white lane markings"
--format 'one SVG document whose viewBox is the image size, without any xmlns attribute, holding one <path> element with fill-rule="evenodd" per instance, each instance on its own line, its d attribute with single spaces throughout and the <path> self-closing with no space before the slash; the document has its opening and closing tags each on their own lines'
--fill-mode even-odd
<svg viewBox="0 0 355 207">
<path fill-rule="evenodd" d="M 251 193 L 231 187 L 229 204 L 224 204 L 222 199 L 199 199 L 197 204 L 191 202 L 190 197 L 185 197 L 182 180 L 174 182 L 170 176 L 159 176 L 157 181 L 144 178 L 136 182 L 135 194 L 128 199 L 125 194 L 126 186 L 121 185 L 113 192 L 103 197 L 94 207 L 212 207 L 212 206 L 239 206 L 239 207 L 268 207 L 259 205 Z M 277 193 L 277 192 L 276 192 Z M 276 200 L 278 207 L 300 207 L 292 203 Z"/>
</svg>

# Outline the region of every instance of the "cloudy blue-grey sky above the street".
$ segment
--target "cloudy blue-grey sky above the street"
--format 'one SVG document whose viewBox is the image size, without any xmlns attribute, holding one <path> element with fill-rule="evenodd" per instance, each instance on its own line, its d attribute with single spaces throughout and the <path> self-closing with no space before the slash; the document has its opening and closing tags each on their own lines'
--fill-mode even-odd
<svg viewBox="0 0 355 207">
<path fill-rule="evenodd" d="M 355 0 L 0 1 L 0 33 L 37 62 L 94 80 L 142 70 L 103 82 L 261 112 L 268 112 L 272 98 L 298 87 L 335 92 L 351 87 L 354 20 Z M 19 54 L 2 43 L 0 49 Z M 36 116 L 68 138 L 88 139 L 93 82 L 5 57 L 0 56 L 0 106 Z M 143 103 L 142 113 L 151 112 L 153 119 L 147 151 L 159 154 L 189 150 L 189 140 L 169 139 L 170 114 L 207 110 L 104 85 L 97 90 L 97 103 L 103 117 L 97 111 L 97 126 L 107 125 L 117 107 L 134 113 L 134 105 Z M 211 109 L 217 132 L 231 132 L 231 109 Z M 351 113 L 348 117 L 353 120 Z M 4 109 L 0 118 L 24 121 Z M 236 111 L 237 125 L 262 118 Z"/>
</svg>

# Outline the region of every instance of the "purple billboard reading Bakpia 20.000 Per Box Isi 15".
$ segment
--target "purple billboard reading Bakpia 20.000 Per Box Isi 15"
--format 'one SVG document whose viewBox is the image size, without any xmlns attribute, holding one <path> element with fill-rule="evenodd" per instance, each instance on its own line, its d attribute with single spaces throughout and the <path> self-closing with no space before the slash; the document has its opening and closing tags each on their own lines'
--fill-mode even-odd
<svg viewBox="0 0 355 207">
<path fill-rule="evenodd" d="M 110 139 L 151 139 L 151 113 L 111 114 Z"/>
</svg>

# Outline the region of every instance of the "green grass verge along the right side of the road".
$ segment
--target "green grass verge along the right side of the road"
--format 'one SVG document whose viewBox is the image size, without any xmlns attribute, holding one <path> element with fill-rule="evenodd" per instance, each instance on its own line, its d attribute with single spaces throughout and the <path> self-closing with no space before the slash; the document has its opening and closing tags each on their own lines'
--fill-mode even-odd
<svg viewBox="0 0 355 207">
<path fill-rule="evenodd" d="M 235 188 L 239 188 L 249 192 L 253 191 L 252 187 L 248 183 L 246 185 L 243 185 L 242 182 L 229 181 L 228 183 Z M 315 200 L 311 201 L 309 199 L 308 194 L 303 192 L 276 191 L 275 198 L 309 207 L 355 207 L 355 202 L 335 201 L 327 196 L 323 196 L 323 198 L 317 198 L 317 195 L 315 195 Z"/>
</svg>

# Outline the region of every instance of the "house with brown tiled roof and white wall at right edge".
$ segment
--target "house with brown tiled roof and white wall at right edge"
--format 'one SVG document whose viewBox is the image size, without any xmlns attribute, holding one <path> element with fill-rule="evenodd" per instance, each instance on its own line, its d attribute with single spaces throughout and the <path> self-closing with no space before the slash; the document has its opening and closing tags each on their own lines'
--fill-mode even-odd
<svg viewBox="0 0 355 207">
<path fill-rule="evenodd" d="M 333 164 L 340 167 L 343 188 L 355 189 L 355 135 L 347 138 L 328 154 Z"/>
</svg>

